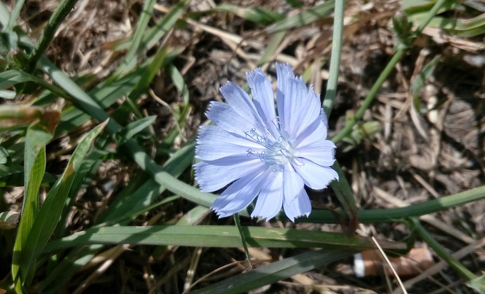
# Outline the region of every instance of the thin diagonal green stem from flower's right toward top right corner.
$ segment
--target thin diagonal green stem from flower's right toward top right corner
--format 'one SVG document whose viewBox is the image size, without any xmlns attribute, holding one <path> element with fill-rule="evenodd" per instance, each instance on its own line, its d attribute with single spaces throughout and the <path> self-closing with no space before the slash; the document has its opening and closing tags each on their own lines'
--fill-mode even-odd
<svg viewBox="0 0 485 294">
<path fill-rule="evenodd" d="M 436 1 L 434 4 L 433 8 L 428 12 L 425 20 L 416 28 L 416 31 L 414 32 L 414 38 L 416 38 L 417 35 L 421 34 L 421 32 L 424 30 L 424 28 L 427 26 L 427 24 L 430 23 L 431 19 L 436 16 L 436 13 L 438 10 L 445 5 L 446 2 L 450 0 L 439 0 Z M 339 1 L 337 1 L 339 2 Z M 371 91 L 369 91 L 369 94 L 367 97 L 364 99 L 364 102 L 362 102 L 362 105 L 359 107 L 358 111 L 355 113 L 353 118 L 351 118 L 345 125 L 344 129 L 340 131 L 335 137 L 333 137 L 333 142 L 337 143 L 340 142 L 343 138 L 348 136 L 350 132 L 352 131 L 353 127 L 357 122 L 362 119 L 364 116 L 364 113 L 369 107 L 371 106 L 374 98 L 376 98 L 376 95 L 382 86 L 382 84 L 387 80 L 387 77 L 391 74 L 391 72 L 394 70 L 394 66 L 399 62 L 401 57 L 406 53 L 407 48 L 400 48 L 397 50 L 397 52 L 394 54 L 394 56 L 391 58 L 387 66 L 384 68 L 382 73 L 380 73 L 378 79 L 376 82 L 373 84 Z M 330 77 L 331 77 L 331 72 L 330 72 Z"/>
</svg>

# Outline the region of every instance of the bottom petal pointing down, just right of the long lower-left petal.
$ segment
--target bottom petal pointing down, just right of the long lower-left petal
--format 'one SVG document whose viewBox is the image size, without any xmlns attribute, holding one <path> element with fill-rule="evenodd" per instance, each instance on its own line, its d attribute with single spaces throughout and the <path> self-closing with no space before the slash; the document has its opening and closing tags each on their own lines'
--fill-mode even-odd
<svg viewBox="0 0 485 294">
<path fill-rule="evenodd" d="M 267 181 L 259 192 L 258 201 L 251 217 L 272 219 L 281 210 L 283 204 L 283 172 L 272 172 L 272 178 Z"/>
</svg>

